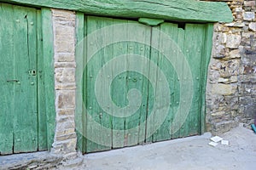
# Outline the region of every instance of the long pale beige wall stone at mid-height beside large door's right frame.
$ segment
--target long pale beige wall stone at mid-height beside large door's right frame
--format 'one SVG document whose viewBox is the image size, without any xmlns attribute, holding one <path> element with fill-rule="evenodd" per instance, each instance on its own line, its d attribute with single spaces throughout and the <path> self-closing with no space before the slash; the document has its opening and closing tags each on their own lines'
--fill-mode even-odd
<svg viewBox="0 0 256 170">
<path fill-rule="evenodd" d="M 231 84 L 212 84 L 212 94 L 232 95 L 236 91 L 237 87 Z"/>
</svg>

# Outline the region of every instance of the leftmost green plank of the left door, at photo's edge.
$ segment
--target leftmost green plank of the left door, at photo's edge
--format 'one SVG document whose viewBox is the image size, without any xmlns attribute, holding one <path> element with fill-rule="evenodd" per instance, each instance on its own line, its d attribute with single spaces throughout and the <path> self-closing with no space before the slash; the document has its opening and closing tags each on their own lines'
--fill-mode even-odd
<svg viewBox="0 0 256 170">
<path fill-rule="evenodd" d="M 14 11 L 11 5 L 0 3 L 0 155 L 11 154 L 14 144 Z"/>
</svg>

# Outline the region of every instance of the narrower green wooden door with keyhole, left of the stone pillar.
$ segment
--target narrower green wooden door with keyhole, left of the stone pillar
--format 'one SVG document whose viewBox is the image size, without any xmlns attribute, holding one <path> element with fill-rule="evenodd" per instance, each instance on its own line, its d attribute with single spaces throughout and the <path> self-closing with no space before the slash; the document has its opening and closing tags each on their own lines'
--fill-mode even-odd
<svg viewBox="0 0 256 170">
<path fill-rule="evenodd" d="M 47 150 L 41 11 L 0 6 L 0 155 Z"/>
</svg>

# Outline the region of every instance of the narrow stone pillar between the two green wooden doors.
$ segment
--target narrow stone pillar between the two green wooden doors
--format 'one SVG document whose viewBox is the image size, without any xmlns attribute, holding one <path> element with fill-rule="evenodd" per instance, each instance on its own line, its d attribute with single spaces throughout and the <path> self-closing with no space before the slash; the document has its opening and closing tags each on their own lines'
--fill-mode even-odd
<svg viewBox="0 0 256 170">
<path fill-rule="evenodd" d="M 75 133 L 75 19 L 71 11 L 52 9 L 55 46 L 56 129 L 52 152 L 77 156 Z"/>
</svg>

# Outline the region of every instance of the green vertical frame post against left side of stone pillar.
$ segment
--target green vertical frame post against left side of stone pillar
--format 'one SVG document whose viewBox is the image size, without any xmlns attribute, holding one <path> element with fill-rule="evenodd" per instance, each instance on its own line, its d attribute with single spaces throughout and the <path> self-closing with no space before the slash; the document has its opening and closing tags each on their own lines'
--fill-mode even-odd
<svg viewBox="0 0 256 170">
<path fill-rule="evenodd" d="M 42 8 L 42 35 L 44 58 L 44 88 L 47 121 L 47 145 L 51 148 L 55 136 L 55 79 L 54 42 L 52 14 L 49 8 Z"/>
</svg>

